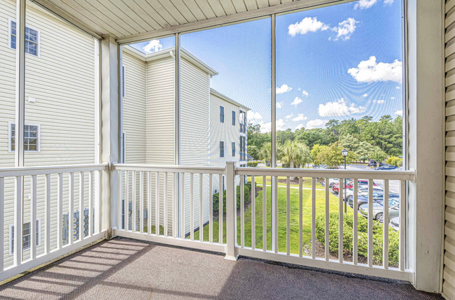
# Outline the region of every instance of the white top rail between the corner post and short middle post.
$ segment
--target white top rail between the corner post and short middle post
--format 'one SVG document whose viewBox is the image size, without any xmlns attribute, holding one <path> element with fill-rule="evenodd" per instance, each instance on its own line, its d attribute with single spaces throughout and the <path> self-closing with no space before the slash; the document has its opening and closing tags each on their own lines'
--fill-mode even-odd
<svg viewBox="0 0 455 300">
<path fill-rule="evenodd" d="M 165 166 L 155 164 L 113 164 L 113 171 L 151 171 L 174 173 L 225 174 L 226 169 L 215 166 Z"/>
</svg>

